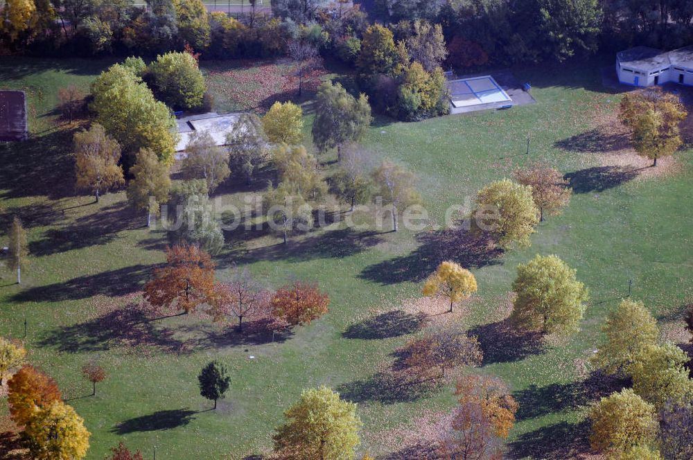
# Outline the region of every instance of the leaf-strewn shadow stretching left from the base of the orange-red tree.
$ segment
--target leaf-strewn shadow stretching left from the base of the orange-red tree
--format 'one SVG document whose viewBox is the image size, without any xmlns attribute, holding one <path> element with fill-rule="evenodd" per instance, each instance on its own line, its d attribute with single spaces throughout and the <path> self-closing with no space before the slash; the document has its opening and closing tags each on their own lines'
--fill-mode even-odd
<svg viewBox="0 0 693 460">
<path fill-rule="evenodd" d="M 46 331 L 39 345 L 67 353 L 106 351 L 114 346 L 146 346 L 164 353 L 186 353 L 186 343 L 159 328 L 137 304 L 112 310 L 79 324 Z"/>
</svg>

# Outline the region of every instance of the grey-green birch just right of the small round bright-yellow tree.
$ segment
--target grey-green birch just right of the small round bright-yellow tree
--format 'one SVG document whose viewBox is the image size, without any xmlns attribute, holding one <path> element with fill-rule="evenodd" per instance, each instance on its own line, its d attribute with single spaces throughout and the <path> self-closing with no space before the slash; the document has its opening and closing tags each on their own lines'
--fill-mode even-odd
<svg viewBox="0 0 693 460">
<path fill-rule="evenodd" d="M 356 99 L 339 83 L 325 82 L 317 91 L 313 142 L 320 152 L 336 147 L 339 161 L 342 146 L 360 141 L 372 120 L 365 94 Z"/>
</svg>

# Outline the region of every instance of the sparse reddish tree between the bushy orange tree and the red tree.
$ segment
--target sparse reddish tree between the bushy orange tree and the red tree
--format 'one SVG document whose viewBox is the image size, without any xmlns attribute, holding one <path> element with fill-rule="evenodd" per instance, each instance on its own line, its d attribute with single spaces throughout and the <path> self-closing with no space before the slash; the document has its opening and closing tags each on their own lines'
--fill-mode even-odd
<svg viewBox="0 0 693 460">
<path fill-rule="evenodd" d="M 227 315 L 238 318 L 238 331 L 243 331 L 243 318 L 252 315 L 266 303 L 265 290 L 248 272 L 247 268 L 236 267 L 228 283 L 216 286 L 214 301 L 209 310 L 214 321 Z"/>
</svg>

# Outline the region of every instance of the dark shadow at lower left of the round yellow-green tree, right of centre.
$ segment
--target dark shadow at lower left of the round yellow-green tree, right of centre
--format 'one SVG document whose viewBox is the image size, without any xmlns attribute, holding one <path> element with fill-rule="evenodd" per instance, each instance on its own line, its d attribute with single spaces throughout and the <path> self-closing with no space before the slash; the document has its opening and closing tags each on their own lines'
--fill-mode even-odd
<svg viewBox="0 0 693 460">
<path fill-rule="evenodd" d="M 509 319 L 476 326 L 469 330 L 469 335 L 479 339 L 484 365 L 524 360 L 529 355 L 544 353 L 545 349 L 541 332 L 517 330 Z"/>
</svg>

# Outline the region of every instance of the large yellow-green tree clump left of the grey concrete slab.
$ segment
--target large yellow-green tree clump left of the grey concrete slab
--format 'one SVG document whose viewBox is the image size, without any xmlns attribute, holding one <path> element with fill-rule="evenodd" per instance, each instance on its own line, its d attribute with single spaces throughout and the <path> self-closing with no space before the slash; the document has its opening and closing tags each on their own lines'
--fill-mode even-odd
<svg viewBox="0 0 693 460">
<path fill-rule="evenodd" d="M 121 144 L 123 152 L 132 155 L 150 148 L 161 161 L 173 164 L 178 139 L 175 118 L 134 69 L 122 64 L 109 67 L 92 83 L 91 94 L 96 121 Z"/>
</svg>

